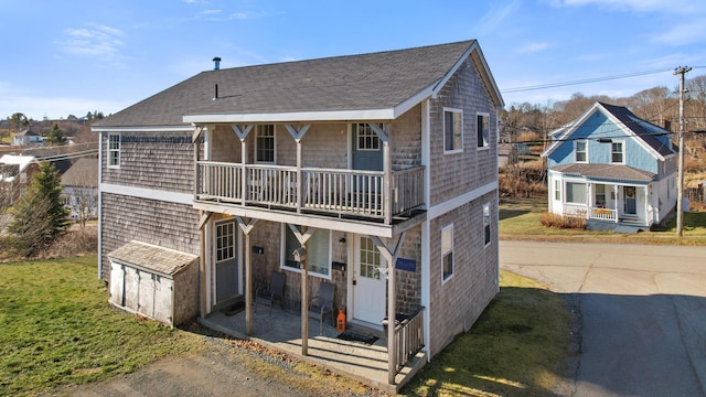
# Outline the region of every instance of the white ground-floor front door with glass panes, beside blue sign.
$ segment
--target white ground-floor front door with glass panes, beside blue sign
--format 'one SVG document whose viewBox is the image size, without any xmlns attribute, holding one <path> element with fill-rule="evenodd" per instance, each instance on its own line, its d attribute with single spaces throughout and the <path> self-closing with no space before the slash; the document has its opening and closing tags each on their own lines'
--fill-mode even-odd
<svg viewBox="0 0 706 397">
<path fill-rule="evenodd" d="M 373 240 L 355 237 L 355 267 L 353 272 L 353 319 L 379 325 L 385 318 L 385 258 Z"/>
</svg>

